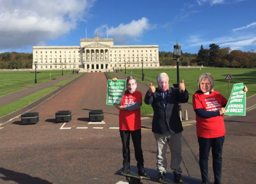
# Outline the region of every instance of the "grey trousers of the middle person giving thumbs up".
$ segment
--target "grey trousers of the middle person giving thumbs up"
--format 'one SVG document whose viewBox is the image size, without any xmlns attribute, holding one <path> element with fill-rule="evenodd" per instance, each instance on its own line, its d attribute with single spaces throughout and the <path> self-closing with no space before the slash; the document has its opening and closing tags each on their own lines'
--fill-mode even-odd
<svg viewBox="0 0 256 184">
<path fill-rule="evenodd" d="M 173 172 L 176 172 L 177 174 L 182 173 L 182 169 L 180 168 L 180 163 L 182 160 L 181 136 L 181 132 L 177 134 L 171 134 L 170 131 L 166 131 L 164 134 L 154 133 L 154 137 L 156 139 L 157 144 L 156 166 L 159 172 L 166 172 L 166 150 L 168 144 L 171 152 L 171 169 Z"/>
</svg>

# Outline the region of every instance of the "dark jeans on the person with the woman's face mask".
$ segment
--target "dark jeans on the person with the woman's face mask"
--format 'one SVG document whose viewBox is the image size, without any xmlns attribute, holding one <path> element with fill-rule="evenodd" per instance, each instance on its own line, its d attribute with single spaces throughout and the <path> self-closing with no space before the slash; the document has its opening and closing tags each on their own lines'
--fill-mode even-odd
<svg viewBox="0 0 256 184">
<path fill-rule="evenodd" d="M 202 180 L 208 181 L 208 158 L 210 149 L 212 148 L 212 167 L 214 173 L 214 180 L 221 180 L 222 168 L 222 147 L 224 143 L 224 136 L 217 138 L 203 138 L 198 137 L 199 144 L 199 165 Z"/>
</svg>

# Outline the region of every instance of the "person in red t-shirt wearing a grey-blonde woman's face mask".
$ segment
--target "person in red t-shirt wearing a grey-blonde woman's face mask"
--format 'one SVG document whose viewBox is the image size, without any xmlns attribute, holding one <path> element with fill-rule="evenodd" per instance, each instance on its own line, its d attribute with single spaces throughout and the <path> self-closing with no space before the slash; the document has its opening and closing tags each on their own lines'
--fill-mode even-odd
<svg viewBox="0 0 256 184">
<path fill-rule="evenodd" d="M 214 184 L 220 184 L 222 168 L 222 147 L 226 133 L 223 115 L 228 100 L 214 91 L 214 80 L 209 73 L 198 79 L 198 91 L 193 95 L 196 112 L 196 134 L 199 144 L 199 165 L 202 184 L 208 184 L 208 158 L 212 148 Z M 244 86 L 244 92 L 247 92 Z"/>
</svg>

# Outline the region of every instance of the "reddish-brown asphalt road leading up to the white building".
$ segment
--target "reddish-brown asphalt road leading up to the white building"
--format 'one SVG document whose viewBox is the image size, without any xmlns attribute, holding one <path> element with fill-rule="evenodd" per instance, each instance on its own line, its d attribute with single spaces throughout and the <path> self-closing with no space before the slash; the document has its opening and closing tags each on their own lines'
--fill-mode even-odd
<svg viewBox="0 0 256 184">
<path fill-rule="evenodd" d="M 21 125 L 16 118 L 0 127 L 0 183 L 3 184 L 116 184 L 125 181 L 114 172 L 122 167 L 118 110 L 106 105 L 107 80 L 103 73 L 88 73 L 32 110 L 40 121 Z M 89 124 L 89 110 L 104 110 L 105 124 Z M 71 110 L 72 120 L 55 123 L 55 112 Z M 225 119 L 222 183 L 251 184 L 256 179 L 256 108 L 246 116 Z M 198 160 L 195 124 L 184 125 L 183 156 Z M 131 142 L 131 164 L 136 165 Z M 156 143 L 150 129 L 142 129 L 145 167 L 156 168 Z M 168 152 L 169 156 L 170 153 Z M 168 164 L 170 157 L 168 156 Z M 213 181 L 209 160 L 209 175 Z M 193 169 L 194 168 L 194 169 Z M 184 161 L 183 175 L 198 171 Z M 170 170 L 169 170 L 170 171 Z M 200 177 L 197 177 L 200 178 Z M 190 178 L 198 183 L 195 178 Z M 145 181 L 143 183 L 153 183 Z M 200 183 L 200 182 L 199 182 Z"/>
</svg>

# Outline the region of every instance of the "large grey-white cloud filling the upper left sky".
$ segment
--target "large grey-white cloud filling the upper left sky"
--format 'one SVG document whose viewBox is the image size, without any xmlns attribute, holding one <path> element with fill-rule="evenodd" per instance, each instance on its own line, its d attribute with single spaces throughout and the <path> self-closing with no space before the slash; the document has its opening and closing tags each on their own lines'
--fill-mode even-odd
<svg viewBox="0 0 256 184">
<path fill-rule="evenodd" d="M 26 48 L 67 34 L 76 28 L 78 21 L 84 21 L 93 2 L 94 0 L 2 1 L 0 50 Z"/>
</svg>

